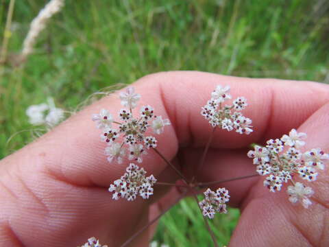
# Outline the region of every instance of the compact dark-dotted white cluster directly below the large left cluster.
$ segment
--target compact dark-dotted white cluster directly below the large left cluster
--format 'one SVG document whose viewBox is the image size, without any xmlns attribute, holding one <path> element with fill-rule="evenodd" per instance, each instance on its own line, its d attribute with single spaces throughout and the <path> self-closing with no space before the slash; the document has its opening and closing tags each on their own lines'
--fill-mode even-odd
<svg viewBox="0 0 329 247">
<path fill-rule="evenodd" d="M 108 191 L 113 193 L 112 198 L 114 200 L 125 198 L 132 201 L 139 194 L 143 199 L 148 199 L 149 196 L 153 195 L 153 185 L 156 183 L 156 178 L 153 175 L 146 177 L 145 174 L 143 168 L 130 163 L 125 174 L 110 185 Z"/>
</svg>

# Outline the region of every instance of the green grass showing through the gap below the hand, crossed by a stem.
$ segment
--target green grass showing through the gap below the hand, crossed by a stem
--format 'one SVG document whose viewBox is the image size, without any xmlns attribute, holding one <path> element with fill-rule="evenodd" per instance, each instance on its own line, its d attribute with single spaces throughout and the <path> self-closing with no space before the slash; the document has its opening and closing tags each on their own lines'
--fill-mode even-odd
<svg viewBox="0 0 329 247">
<path fill-rule="evenodd" d="M 227 245 L 230 241 L 239 215 L 239 209 L 229 209 L 228 215 L 217 215 L 210 221 L 210 227 L 218 239 L 219 246 Z M 177 247 L 212 246 L 212 239 L 206 231 L 204 220 L 193 198 L 182 200 L 162 217 L 154 239 Z"/>
</svg>

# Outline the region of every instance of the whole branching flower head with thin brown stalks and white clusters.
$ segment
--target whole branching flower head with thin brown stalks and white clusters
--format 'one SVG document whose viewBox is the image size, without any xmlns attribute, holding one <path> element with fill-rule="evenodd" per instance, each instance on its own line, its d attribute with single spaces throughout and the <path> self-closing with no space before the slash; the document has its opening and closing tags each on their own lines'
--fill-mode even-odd
<svg viewBox="0 0 329 247">
<path fill-rule="evenodd" d="M 250 134 L 253 132 L 251 126 L 252 120 L 241 114 L 241 110 L 247 106 L 245 97 L 234 99 L 231 105 L 223 105 L 224 102 L 232 98 L 229 91 L 229 86 L 217 86 L 211 94 L 212 97 L 202 107 L 201 115 L 209 121 L 209 124 L 212 126 L 212 133 L 197 165 L 195 174 L 197 174 L 201 167 L 204 168 L 206 154 L 212 143 L 215 130 L 222 129 L 229 132 L 235 130 L 239 134 Z M 120 93 L 119 97 L 121 104 L 125 107 L 119 110 L 119 120 L 114 120 L 114 117 L 106 109 L 101 109 L 99 114 L 94 114 L 92 117 L 93 121 L 96 122 L 97 128 L 102 132 L 101 141 L 107 143 L 104 152 L 108 161 L 110 163 L 115 162 L 120 164 L 127 158 L 130 161 L 142 163 L 143 156 L 147 154 L 146 150 L 153 149 L 178 174 L 184 181 L 184 184 L 176 185 L 175 183 L 158 182 L 152 174 L 146 176 L 147 172 L 143 167 L 130 163 L 125 169 L 125 174 L 121 178 L 114 180 L 108 189 L 112 193 L 114 200 L 124 198 L 128 201 L 133 201 L 137 196 L 141 196 L 141 198 L 147 200 L 154 193 L 154 185 L 175 186 L 186 189 L 182 193 L 181 198 L 186 196 L 188 191 L 192 191 L 192 195 L 199 206 L 214 246 L 218 246 L 218 244 L 215 234 L 210 229 L 208 220 L 214 218 L 216 213 L 227 213 L 226 204 L 230 200 L 230 195 L 228 189 L 218 188 L 212 191 L 209 188 L 210 185 L 267 175 L 264 185 L 270 191 L 280 191 L 282 184 L 290 181 L 292 186 L 287 188 L 289 200 L 292 203 L 301 201 L 305 208 L 308 208 L 312 204 L 308 198 L 313 195 L 313 189 L 305 187 L 302 183 L 294 180 L 293 177 L 299 175 L 300 178 L 309 182 L 316 180 L 318 176 L 316 169 L 324 169 L 324 161 L 329 158 L 329 155 L 325 154 L 319 148 L 312 149 L 304 154 L 300 150 L 297 150 L 297 148 L 305 144 L 304 139 L 306 138 L 306 134 L 298 133 L 293 129 L 289 135 L 284 134 L 281 139 L 267 141 L 265 147 L 255 145 L 254 150 L 249 151 L 247 156 L 253 158 L 257 174 L 200 183 L 196 181 L 195 176 L 191 180 L 188 180 L 157 149 L 158 141 L 156 137 L 146 134 L 150 128 L 154 134 L 162 134 L 164 127 L 170 124 L 169 119 L 162 119 L 161 116 L 156 116 L 154 114 L 154 108 L 149 105 L 142 106 L 139 110 L 139 116 L 134 117 L 134 108 L 136 108 L 137 102 L 141 99 L 141 95 L 135 93 L 132 87 L 128 87 L 124 93 Z M 117 125 L 118 128 L 113 128 L 113 125 Z M 201 201 L 195 194 L 195 191 L 199 191 L 200 189 L 206 189 L 204 191 L 204 199 Z M 135 237 L 156 222 L 167 210 L 160 213 L 154 220 L 151 220 L 146 226 L 143 226 L 143 228 L 134 233 L 122 246 L 130 244 Z M 97 239 L 93 239 L 93 241 L 93 243 L 98 244 Z M 101 247 L 100 244 L 94 246 Z"/>
</svg>

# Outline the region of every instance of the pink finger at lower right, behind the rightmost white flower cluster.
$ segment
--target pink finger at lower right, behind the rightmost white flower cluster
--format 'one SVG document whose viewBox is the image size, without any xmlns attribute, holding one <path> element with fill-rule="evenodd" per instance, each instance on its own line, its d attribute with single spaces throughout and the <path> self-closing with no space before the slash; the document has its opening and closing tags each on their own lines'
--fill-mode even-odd
<svg viewBox="0 0 329 247">
<path fill-rule="evenodd" d="M 321 148 L 329 152 L 329 104 L 321 107 L 298 129 L 306 132 L 304 150 Z M 319 172 L 317 181 L 308 183 L 315 195 L 310 209 L 291 204 L 286 192 L 271 193 L 260 180 L 245 195 L 243 213 L 230 246 L 328 246 L 329 245 L 329 169 Z M 263 177 L 264 178 L 264 177 Z"/>
</svg>

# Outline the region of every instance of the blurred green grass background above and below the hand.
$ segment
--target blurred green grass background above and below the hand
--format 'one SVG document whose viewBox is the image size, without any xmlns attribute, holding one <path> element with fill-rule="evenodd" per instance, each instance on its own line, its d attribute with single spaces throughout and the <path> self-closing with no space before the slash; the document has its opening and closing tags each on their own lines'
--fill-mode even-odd
<svg viewBox="0 0 329 247">
<path fill-rule="evenodd" d="M 0 158 L 32 140 L 21 132 L 7 143 L 31 128 L 27 106 L 48 96 L 72 109 L 103 87 L 169 70 L 329 82 L 326 0 L 66 1 L 24 67 L 12 67 L 29 23 L 46 2 L 14 5 L 0 75 Z M 2 40 L 9 0 L 0 3 Z M 171 246 L 211 246 L 197 210 L 184 200 L 162 218 L 155 238 Z M 238 218 L 231 209 L 213 221 L 221 244 L 228 243 Z"/>
</svg>

